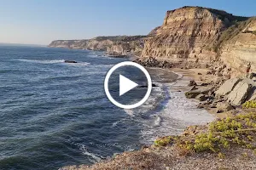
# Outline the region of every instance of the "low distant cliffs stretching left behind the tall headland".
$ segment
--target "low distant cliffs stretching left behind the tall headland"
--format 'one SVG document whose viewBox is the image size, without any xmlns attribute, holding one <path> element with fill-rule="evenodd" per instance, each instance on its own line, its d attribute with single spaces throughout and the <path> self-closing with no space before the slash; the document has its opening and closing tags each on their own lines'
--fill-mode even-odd
<svg viewBox="0 0 256 170">
<path fill-rule="evenodd" d="M 84 40 L 56 40 L 50 48 L 102 50 L 110 55 L 140 55 L 144 36 L 95 37 Z"/>
</svg>

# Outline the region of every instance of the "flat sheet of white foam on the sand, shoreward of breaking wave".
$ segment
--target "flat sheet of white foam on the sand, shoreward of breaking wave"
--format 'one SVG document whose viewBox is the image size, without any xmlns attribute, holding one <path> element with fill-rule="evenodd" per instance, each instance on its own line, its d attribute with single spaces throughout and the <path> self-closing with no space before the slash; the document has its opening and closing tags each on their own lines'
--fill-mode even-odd
<svg viewBox="0 0 256 170">
<path fill-rule="evenodd" d="M 179 85 L 179 82 L 172 84 Z M 157 137 L 179 134 L 189 125 L 206 124 L 215 119 L 207 111 L 196 109 L 197 102 L 194 99 L 186 99 L 183 92 L 169 88 L 171 89 L 166 92 L 166 96 L 170 95 L 170 99 L 166 103 L 161 103 L 163 108 L 149 116 L 149 119 L 143 120 L 143 144 L 152 144 Z"/>
</svg>

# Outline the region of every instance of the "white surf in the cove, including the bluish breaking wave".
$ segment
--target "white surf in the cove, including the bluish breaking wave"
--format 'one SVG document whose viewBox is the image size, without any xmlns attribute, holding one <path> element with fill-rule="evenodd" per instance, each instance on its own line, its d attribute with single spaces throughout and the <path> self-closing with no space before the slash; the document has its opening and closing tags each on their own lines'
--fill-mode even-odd
<svg viewBox="0 0 256 170">
<path fill-rule="evenodd" d="M 157 137 L 179 134 L 189 125 L 206 124 L 215 119 L 207 111 L 197 109 L 195 99 L 186 99 L 184 92 L 177 91 L 186 87 L 189 79 L 177 74 L 177 82 L 166 83 L 168 76 L 164 72 L 157 74 L 164 77 L 163 82 L 154 82 L 158 87 L 153 88 L 148 100 L 136 109 L 124 110 L 143 127 L 143 144 L 152 144 Z"/>
</svg>

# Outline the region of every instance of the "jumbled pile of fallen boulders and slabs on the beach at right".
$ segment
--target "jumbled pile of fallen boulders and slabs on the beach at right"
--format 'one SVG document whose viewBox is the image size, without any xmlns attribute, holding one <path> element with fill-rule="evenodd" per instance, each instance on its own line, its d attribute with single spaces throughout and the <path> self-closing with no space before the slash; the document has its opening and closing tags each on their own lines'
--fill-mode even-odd
<svg viewBox="0 0 256 170">
<path fill-rule="evenodd" d="M 253 75 L 253 74 L 251 74 Z M 253 76 L 250 76 L 253 78 Z M 218 81 L 218 80 L 217 80 Z M 189 85 L 197 84 L 190 81 Z M 250 78 L 232 78 L 222 85 L 220 82 L 201 83 L 205 87 L 194 86 L 185 93 L 188 99 L 201 101 L 198 108 L 216 108 L 217 113 L 236 109 L 248 100 L 256 99 L 256 82 Z"/>
</svg>

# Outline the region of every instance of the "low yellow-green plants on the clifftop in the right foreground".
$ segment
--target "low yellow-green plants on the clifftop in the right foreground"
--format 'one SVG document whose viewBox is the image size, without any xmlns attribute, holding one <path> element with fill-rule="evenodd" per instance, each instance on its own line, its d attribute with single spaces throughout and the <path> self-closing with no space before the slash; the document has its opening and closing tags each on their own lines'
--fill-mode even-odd
<svg viewBox="0 0 256 170">
<path fill-rule="evenodd" d="M 189 136 L 167 136 L 154 141 L 155 146 L 173 145 L 187 154 L 195 152 L 217 152 L 240 146 L 256 149 L 256 113 L 250 112 L 226 117 L 208 124 L 198 134 Z M 184 151 L 185 150 L 185 151 Z"/>
</svg>

